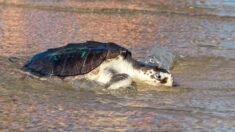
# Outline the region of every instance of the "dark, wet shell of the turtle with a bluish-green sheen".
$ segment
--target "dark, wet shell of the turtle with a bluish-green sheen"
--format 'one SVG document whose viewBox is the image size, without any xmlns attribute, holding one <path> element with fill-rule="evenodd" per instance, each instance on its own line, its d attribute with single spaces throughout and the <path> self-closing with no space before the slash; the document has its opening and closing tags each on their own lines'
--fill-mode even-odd
<svg viewBox="0 0 235 132">
<path fill-rule="evenodd" d="M 118 55 L 127 57 L 131 52 L 115 43 L 71 43 L 36 54 L 23 69 L 41 76 L 75 76 L 86 74 Z"/>
</svg>

